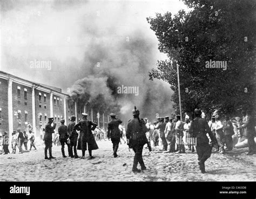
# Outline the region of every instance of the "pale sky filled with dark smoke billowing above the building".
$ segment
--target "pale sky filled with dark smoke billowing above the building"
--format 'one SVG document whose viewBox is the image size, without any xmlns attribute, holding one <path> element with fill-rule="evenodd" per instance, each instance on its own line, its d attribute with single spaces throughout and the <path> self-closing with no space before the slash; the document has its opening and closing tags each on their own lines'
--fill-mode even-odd
<svg viewBox="0 0 256 199">
<path fill-rule="evenodd" d="M 165 116 L 173 111 L 170 86 L 148 77 L 157 59 L 165 56 L 157 49 L 146 17 L 154 16 L 154 10 L 177 12 L 183 3 L 4 1 L 1 5 L 3 71 L 56 85 L 64 92 L 69 87 L 71 102 L 116 111 L 123 120 L 131 118 L 134 105 L 151 121 L 156 113 Z M 35 59 L 51 61 L 51 70 L 30 68 Z M 117 93 L 122 85 L 138 86 L 139 95 Z"/>
</svg>

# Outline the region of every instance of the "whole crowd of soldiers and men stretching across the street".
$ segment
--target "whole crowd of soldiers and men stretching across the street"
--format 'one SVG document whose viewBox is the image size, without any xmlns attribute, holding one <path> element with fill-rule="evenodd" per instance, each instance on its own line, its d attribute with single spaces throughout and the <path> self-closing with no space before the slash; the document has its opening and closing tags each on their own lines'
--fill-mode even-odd
<svg viewBox="0 0 256 199">
<path fill-rule="evenodd" d="M 97 127 L 97 123 L 87 119 L 87 114 L 82 113 L 83 119 L 79 122 L 76 121 L 76 116 L 71 116 L 71 121 L 68 126 L 65 126 L 65 120 L 60 120 L 61 125 L 58 128 L 58 140 L 62 146 L 62 156 L 65 155 L 64 147 L 68 146 L 68 154 L 70 157 L 78 158 L 77 150 L 82 150 L 82 159 L 85 158 L 85 151 L 89 151 L 90 159 L 93 159 L 92 150 L 98 149 L 96 140 L 100 138 L 111 139 L 113 143 L 113 156 L 117 157 L 117 150 L 121 140 L 129 145 L 134 151 L 134 160 L 132 171 L 139 173 L 145 170 L 145 164 L 142 157 L 144 145 L 151 151 L 151 141 L 153 147 L 161 146 L 160 150 L 166 153 L 186 153 L 186 150 L 195 150 L 198 154 L 198 164 L 201 173 L 205 173 L 205 161 L 211 156 L 212 148 L 215 148 L 216 153 L 225 153 L 225 151 L 233 149 L 232 135 L 246 136 L 248 139 L 249 152 L 247 155 L 255 154 L 254 142 L 254 118 L 251 111 L 242 111 L 242 118 L 229 118 L 225 115 L 224 120 L 221 121 L 218 114 L 212 115 L 210 121 L 206 121 L 205 115 L 199 109 L 194 110 L 193 119 L 185 113 L 185 122 L 181 121 L 180 115 L 165 116 L 164 118 L 157 118 L 153 124 L 147 121 L 147 118 L 139 118 L 139 110 L 134 107 L 132 111 L 133 119 L 129 120 L 126 133 L 124 127 L 121 125 L 122 121 L 116 118 L 116 114 L 111 113 L 111 121 L 107 127 L 107 133 L 104 129 Z M 45 159 L 55 159 L 52 156 L 52 135 L 55 133 L 56 123 L 53 118 L 49 121 L 44 129 L 43 140 L 45 143 Z M 19 153 L 23 153 L 22 145 L 25 150 L 28 150 L 27 143 L 30 140 L 30 150 L 34 145 L 35 136 L 32 129 L 29 129 L 29 135 L 26 131 L 22 132 L 21 129 L 12 133 L 12 153 L 16 153 L 16 146 L 18 146 Z M 96 132 L 96 133 L 93 133 Z M 8 133 L 5 132 L 4 136 Z M 127 139 L 127 140 L 126 140 Z M 196 149 L 195 149 L 196 148 Z M 4 147 L 5 153 L 8 153 L 8 146 Z M 6 151 L 8 150 L 8 151 Z M 49 157 L 48 157 L 49 151 Z M 137 168 L 138 163 L 141 170 Z"/>
</svg>

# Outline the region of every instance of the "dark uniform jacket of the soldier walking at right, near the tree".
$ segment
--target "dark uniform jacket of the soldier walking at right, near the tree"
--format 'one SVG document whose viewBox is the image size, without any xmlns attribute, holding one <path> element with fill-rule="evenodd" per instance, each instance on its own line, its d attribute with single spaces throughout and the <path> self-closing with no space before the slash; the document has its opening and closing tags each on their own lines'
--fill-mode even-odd
<svg viewBox="0 0 256 199">
<path fill-rule="evenodd" d="M 208 145 L 209 140 L 207 137 L 207 133 L 210 136 L 211 140 L 214 142 L 216 141 L 216 138 L 213 136 L 210 127 L 208 126 L 208 123 L 205 119 L 196 117 L 190 125 L 190 129 L 188 130 L 190 134 L 194 138 L 197 138 L 197 143 L 199 145 Z"/>
</svg>

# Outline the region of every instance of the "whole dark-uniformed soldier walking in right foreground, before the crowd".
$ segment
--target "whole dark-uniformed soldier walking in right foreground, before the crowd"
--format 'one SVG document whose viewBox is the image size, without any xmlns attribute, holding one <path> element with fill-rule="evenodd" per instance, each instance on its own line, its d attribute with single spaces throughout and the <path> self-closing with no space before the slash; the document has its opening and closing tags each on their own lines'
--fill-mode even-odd
<svg viewBox="0 0 256 199">
<path fill-rule="evenodd" d="M 194 114 L 196 118 L 191 122 L 190 129 L 188 132 L 193 136 L 193 138 L 197 139 L 197 155 L 198 155 L 198 164 L 201 170 L 201 173 L 205 172 L 205 161 L 211 156 L 212 146 L 209 145 L 209 140 L 206 135 L 210 136 L 213 144 L 217 144 L 216 138 L 213 136 L 210 127 L 207 124 L 207 121 L 201 118 L 201 111 L 199 109 L 194 110 Z"/>
</svg>

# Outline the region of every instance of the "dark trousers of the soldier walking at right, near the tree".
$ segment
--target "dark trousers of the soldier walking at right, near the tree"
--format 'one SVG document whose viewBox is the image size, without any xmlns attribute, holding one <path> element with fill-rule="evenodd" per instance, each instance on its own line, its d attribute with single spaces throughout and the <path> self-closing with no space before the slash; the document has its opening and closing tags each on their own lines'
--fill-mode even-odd
<svg viewBox="0 0 256 199">
<path fill-rule="evenodd" d="M 197 143 L 196 146 L 200 170 L 205 171 L 205 161 L 211 157 L 212 147 L 207 143 Z"/>
</svg>

